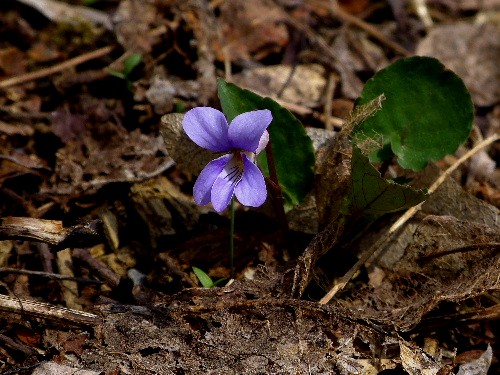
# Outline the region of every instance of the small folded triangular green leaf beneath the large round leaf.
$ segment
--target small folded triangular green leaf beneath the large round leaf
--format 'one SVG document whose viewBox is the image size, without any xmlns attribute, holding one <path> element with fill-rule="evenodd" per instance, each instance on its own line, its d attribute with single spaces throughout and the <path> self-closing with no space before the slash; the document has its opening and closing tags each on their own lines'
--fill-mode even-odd
<svg viewBox="0 0 500 375">
<path fill-rule="evenodd" d="M 350 213 L 380 215 L 410 208 L 426 198 L 423 191 L 382 178 L 356 146 L 353 147 L 351 165 Z"/>
</svg>

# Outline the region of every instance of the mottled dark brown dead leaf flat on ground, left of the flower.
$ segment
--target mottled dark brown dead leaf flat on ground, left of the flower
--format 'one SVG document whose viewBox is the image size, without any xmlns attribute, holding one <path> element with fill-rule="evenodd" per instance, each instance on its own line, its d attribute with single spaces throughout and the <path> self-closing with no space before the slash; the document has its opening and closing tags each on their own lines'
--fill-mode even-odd
<svg viewBox="0 0 500 375">
<path fill-rule="evenodd" d="M 103 134 L 105 136 L 103 137 Z M 56 154 L 55 174 L 42 193 L 90 193 L 112 182 L 137 182 L 174 165 L 161 137 L 99 124 Z"/>
</svg>

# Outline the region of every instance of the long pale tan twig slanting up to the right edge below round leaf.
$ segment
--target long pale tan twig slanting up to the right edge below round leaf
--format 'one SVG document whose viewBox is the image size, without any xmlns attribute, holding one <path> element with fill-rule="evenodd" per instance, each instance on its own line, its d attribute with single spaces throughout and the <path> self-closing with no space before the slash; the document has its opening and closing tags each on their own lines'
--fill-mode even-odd
<svg viewBox="0 0 500 375">
<path fill-rule="evenodd" d="M 443 172 L 441 176 L 439 176 L 436 181 L 429 187 L 428 193 L 434 193 L 439 186 L 467 159 L 472 157 L 482 148 L 492 144 L 495 141 L 500 139 L 500 135 L 493 135 L 489 138 L 486 138 L 484 141 L 478 143 L 474 148 L 465 153 L 460 159 L 458 159 L 453 165 L 451 165 L 446 171 Z M 424 202 L 417 204 L 416 206 L 408 209 L 394 224 L 391 225 L 386 235 L 384 235 L 379 241 L 375 243 L 375 245 L 367 251 L 354 266 L 351 267 L 349 271 L 340 279 L 340 281 L 332 288 L 330 291 L 319 301 L 320 304 L 324 305 L 340 291 L 342 290 L 347 283 L 351 280 L 354 274 L 365 264 L 371 257 L 377 256 L 382 249 L 384 249 L 385 244 L 391 239 L 392 235 L 400 229 L 408 220 L 410 220 L 415 214 L 422 209 L 422 205 Z"/>
</svg>

